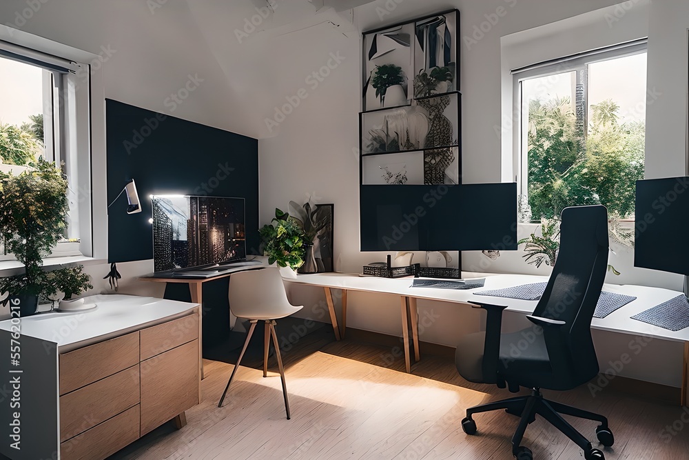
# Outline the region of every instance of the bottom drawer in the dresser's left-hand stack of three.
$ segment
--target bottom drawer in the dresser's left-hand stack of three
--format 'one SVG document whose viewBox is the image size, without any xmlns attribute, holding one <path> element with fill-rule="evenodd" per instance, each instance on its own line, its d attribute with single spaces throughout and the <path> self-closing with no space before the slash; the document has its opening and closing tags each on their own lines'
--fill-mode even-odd
<svg viewBox="0 0 689 460">
<path fill-rule="evenodd" d="M 94 426 L 60 444 L 62 460 L 104 460 L 130 445 L 139 435 L 139 406 Z"/>
</svg>

